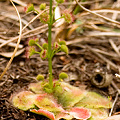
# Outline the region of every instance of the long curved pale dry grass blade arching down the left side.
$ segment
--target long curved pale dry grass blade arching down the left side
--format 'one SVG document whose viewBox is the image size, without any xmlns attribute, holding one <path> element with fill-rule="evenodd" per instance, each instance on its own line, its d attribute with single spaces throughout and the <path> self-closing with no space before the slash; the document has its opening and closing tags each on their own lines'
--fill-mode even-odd
<svg viewBox="0 0 120 120">
<path fill-rule="evenodd" d="M 18 18 L 19 18 L 19 22 L 20 22 L 20 34 L 19 34 L 19 38 L 18 38 L 18 41 L 17 41 L 17 45 L 16 45 L 16 47 L 15 47 L 15 49 L 14 49 L 13 55 L 12 55 L 11 59 L 9 60 L 9 62 L 8 62 L 8 64 L 7 64 L 7 66 L 6 66 L 6 68 L 4 69 L 3 73 L 1 74 L 0 80 L 2 79 L 2 77 L 4 76 L 4 74 L 6 73 L 7 69 L 9 68 L 9 66 L 10 66 L 10 64 L 11 64 L 11 62 L 12 62 L 12 60 L 13 60 L 13 58 L 14 58 L 16 52 L 17 52 L 17 49 L 18 49 L 18 46 L 19 46 L 19 43 L 20 43 L 20 40 L 21 40 L 21 35 L 22 35 L 22 21 L 21 21 L 20 14 L 19 14 L 19 12 L 18 12 L 16 6 L 15 6 L 14 3 L 12 2 L 12 0 L 10 0 L 10 2 L 11 2 L 12 5 L 14 6 L 14 8 L 15 8 L 17 14 L 18 14 Z"/>
</svg>

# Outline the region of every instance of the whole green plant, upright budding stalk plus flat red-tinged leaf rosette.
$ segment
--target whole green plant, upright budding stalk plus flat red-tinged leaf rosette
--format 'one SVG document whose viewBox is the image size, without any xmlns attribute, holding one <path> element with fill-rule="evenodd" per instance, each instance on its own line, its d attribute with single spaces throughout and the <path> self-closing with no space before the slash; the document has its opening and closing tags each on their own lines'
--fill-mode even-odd
<svg viewBox="0 0 120 120">
<path fill-rule="evenodd" d="M 57 7 L 64 0 L 56 0 L 56 2 Z M 58 80 L 53 79 L 53 56 L 60 51 L 68 54 L 68 47 L 65 41 L 58 40 L 52 45 L 51 28 L 53 23 L 58 20 L 54 20 L 56 7 L 53 9 L 52 0 L 50 0 L 49 13 L 45 11 L 40 15 L 40 21 L 48 24 L 48 43 L 44 43 L 41 46 L 38 44 L 38 39 L 31 39 L 29 41 L 29 56 L 39 54 L 41 59 L 48 59 L 49 77 L 45 80 L 44 76 L 39 74 L 36 77 L 39 82 L 30 84 L 28 91 L 20 92 L 14 96 L 13 104 L 19 109 L 24 111 L 30 110 L 33 113 L 44 115 L 51 120 L 59 120 L 61 118 L 67 120 L 71 120 L 72 118 L 80 120 L 103 120 L 108 116 L 106 108 L 111 107 L 111 102 L 108 99 L 97 93 L 80 90 L 63 82 L 63 79 L 68 77 L 64 72 L 59 74 Z M 46 4 L 41 4 L 39 8 L 41 11 L 45 10 Z M 39 13 L 35 10 L 33 4 L 28 6 L 27 12 L 30 11 Z M 68 10 L 63 12 L 61 18 L 64 18 L 68 23 L 71 23 L 73 20 Z M 36 51 L 34 46 L 39 47 L 40 51 Z"/>
</svg>

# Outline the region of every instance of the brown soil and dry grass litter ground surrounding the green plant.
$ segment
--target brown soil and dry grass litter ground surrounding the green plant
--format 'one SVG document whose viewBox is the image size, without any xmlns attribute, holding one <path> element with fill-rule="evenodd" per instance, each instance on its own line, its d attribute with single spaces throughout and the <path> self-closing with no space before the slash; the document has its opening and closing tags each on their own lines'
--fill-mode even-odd
<svg viewBox="0 0 120 120">
<path fill-rule="evenodd" d="M 21 1 L 24 2 L 24 0 Z M 30 2 L 30 0 L 26 0 L 27 4 Z M 32 2 L 38 9 L 42 1 L 33 0 Z M 45 2 L 49 5 L 49 1 L 46 0 Z M 60 5 L 60 8 L 69 7 L 73 10 L 75 6 L 71 7 L 71 4 L 67 3 L 69 3 L 68 0 Z M 87 9 L 95 10 L 99 8 L 98 10 L 103 10 L 101 15 L 111 20 L 120 21 L 119 14 L 115 19 L 112 19 L 111 16 L 114 13 L 106 13 L 104 9 L 119 10 L 120 3 L 117 1 L 86 0 L 85 3 L 84 6 Z M 15 5 L 22 17 L 23 26 L 36 16 L 36 13 L 26 14 L 23 6 L 17 3 Z M 12 4 L 7 0 L 0 0 L 0 41 L 7 41 L 19 35 L 19 21 L 16 20 L 16 16 Z M 53 26 L 53 41 L 60 37 L 60 39 L 66 40 L 69 48 L 68 55 L 60 52 L 54 56 L 52 63 L 54 78 L 58 79 L 59 73 L 64 71 L 69 75 L 69 79 L 65 80 L 66 82 L 81 89 L 96 91 L 105 97 L 109 96 L 112 101 L 116 99 L 112 114 L 119 114 L 120 96 L 117 96 L 117 93 L 119 93 L 120 79 L 115 74 L 120 72 L 120 24 L 88 14 L 82 9 L 80 9 L 80 13 L 74 16 L 74 19 L 73 23 L 62 25 L 60 30 Z M 81 22 L 81 25 L 77 28 L 73 26 L 76 21 Z M 23 34 L 40 26 L 43 26 L 43 24 L 40 23 L 38 18 L 23 31 Z M 101 33 L 104 35 L 100 35 Z M 45 78 L 48 77 L 47 60 L 43 61 L 39 55 L 33 55 L 30 59 L 27 58 L 28 40 L 36 37 L 40 44 L 47 41 L 47 28 L 43 27 L 22 36 L 20 42 L 22 48 L 18 50 L 24 49 L 24 52 L 13 59 L 6 74 L 0 80 L 0 120 L 48 120 L 44 116 L 19 110 L 12 105 L 14 94 L 27 90 L 30 83 L 36 82 L 38 74 L 43 74 Z M 16 43 L 16 40 L 13 42 Z M 0 43 L 2 44 L 2 42 Z M 10 60 L 9 52 L 13 51 L 14 47 L 10 45 L 0 46 L 0 74 Z M 9 55 L 6 55 L 6 53 Z"/>
</svg>

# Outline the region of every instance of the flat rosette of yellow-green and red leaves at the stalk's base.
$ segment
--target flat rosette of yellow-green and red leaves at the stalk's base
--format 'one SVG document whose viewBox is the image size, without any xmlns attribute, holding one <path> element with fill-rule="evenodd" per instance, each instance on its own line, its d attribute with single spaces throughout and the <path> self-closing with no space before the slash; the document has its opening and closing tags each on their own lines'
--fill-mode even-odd
<svg viewBox="0 0 120 120">
<path fill-rule="evenodd" d="M 43 90 L 45 84 L 45 81 L 30 84 L 32 92 L 18 93 L 13 97 L 13 105 L 51 120 L 104 120 L 108 117 L 107 110 L 111 107 L 109 99 L 58 81 L 54 81 L 53 93 L 48 94 Z"/>
</svg>

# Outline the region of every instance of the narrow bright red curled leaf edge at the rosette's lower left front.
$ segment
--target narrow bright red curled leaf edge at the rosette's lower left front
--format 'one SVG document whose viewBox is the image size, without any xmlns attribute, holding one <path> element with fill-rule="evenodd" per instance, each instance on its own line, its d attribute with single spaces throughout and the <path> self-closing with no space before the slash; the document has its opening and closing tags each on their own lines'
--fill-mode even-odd
<svg viewBox="0 0 120 120">
<path fill-rule="evenodd" d="M 47 111 L 47 110 L 43 110 L 43 109 L 39 109 L 39 110 L 32 109 L 32 110 L 30 110 L 30 111 L 33 112 L 33 113 L 39 114 L 39 115 L 44 115 L 44 116 L 48 117 L 48 118 L 51 119 L 51 120 L 55 120 L 55 115 L 54 115 L 54 113 L 49 112 L 49 111 Z"/>
</svg>

